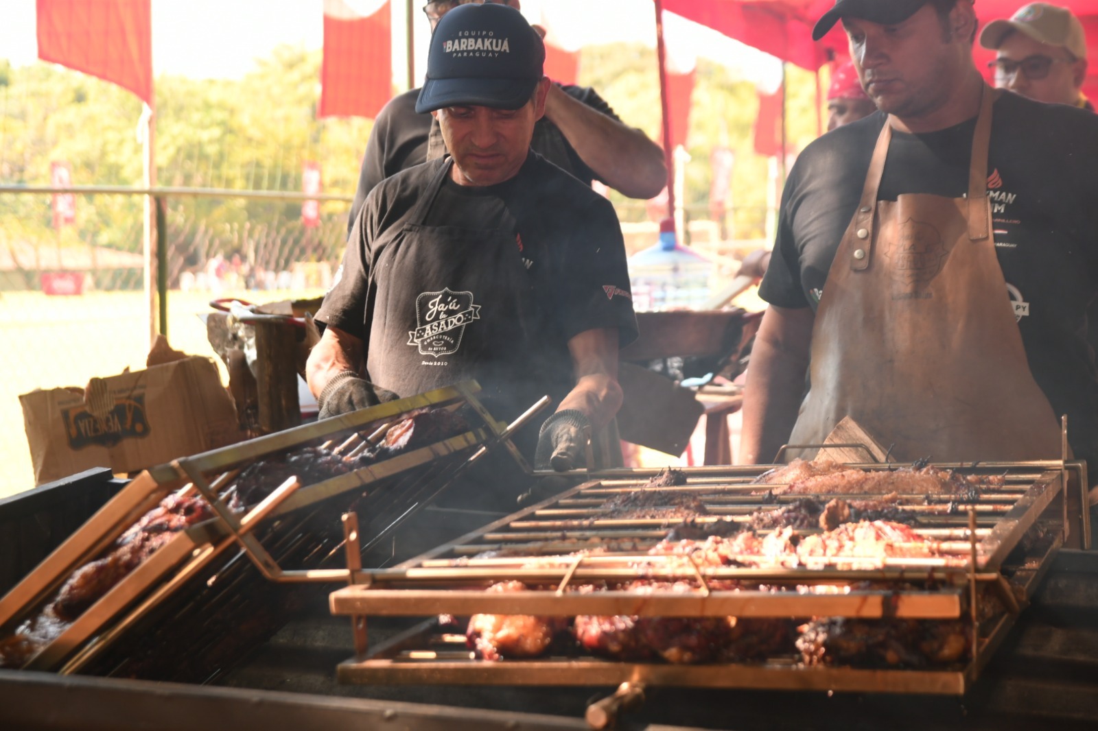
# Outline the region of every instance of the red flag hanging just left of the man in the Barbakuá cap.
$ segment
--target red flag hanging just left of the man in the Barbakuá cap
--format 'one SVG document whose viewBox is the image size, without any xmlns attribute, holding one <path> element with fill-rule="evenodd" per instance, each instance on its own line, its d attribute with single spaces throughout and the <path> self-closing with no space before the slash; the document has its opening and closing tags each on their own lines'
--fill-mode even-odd
<svg viewBox="0 0 1098 731">
<path fill-rule="evenodd" d="M 317 116 L 374 117 L 393 94 L 389 0 L 324 0 Z"/>
</svg>

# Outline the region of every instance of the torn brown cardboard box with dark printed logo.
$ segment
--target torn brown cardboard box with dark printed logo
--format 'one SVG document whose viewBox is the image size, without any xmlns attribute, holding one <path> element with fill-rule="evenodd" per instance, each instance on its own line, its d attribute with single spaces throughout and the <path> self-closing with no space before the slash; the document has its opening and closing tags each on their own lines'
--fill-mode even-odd
<svg viewBox="0 0 1098 731">
<path fill-rule="evenodd" d="M 216 366 L 198 356 L 19 401 L 38 485 L 93 466 L 135 472 L 244 437 Z"/>
</svg>

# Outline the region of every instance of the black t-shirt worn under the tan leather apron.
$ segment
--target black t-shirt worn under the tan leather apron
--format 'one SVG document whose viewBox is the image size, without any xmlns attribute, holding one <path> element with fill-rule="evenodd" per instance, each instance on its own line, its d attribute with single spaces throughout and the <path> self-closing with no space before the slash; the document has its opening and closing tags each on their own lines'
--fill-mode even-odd
<svg viewBox="0 0 1098 731">
<path fill-rule="evenodd" d="M 877 112 L 839 127 L 798 157 L 760 288 L 768 302 L 818 305 L 885 119 Z M 929 134 L 894 132 L 878 200 L 963 196 L 974 130 L 975 119 Z M 1098 378 L 1087 344 L 1087 308 L 1098 293 L 1098 116 L 1005 92 L 994 106 L 987 167 L 996 254 L 1030 370 L 1057 416 L 1068 415 L 1076 457 L 1098 465 Z"/>
</svg>

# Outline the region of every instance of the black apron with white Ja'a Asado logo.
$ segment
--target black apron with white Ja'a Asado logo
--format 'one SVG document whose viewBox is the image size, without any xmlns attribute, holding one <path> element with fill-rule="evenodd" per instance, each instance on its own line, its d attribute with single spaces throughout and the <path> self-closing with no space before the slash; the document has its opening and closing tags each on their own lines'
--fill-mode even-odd
<svg viewBox="0 0 1098 731">
<path fill-rule="evenodd" d="M 452 165 L 438 167 L 407 223 L 371 261 L 367 371 L 401 396 L 475 379 L 492 415 L 512 419 L 542 395 L 559 403 L 571 387 L 571 361 L 567 347 L 541 335 L 545 302 L 515 232 L 425 225 Z M 536 440 L 537 429 L 527 431 Z M 533 446 L 524 445 L 531 456 Z"/>
</svg>

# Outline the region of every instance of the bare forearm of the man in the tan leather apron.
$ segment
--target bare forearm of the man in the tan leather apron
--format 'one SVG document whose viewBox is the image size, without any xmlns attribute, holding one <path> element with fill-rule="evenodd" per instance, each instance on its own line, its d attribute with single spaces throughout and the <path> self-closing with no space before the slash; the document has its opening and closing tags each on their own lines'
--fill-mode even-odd
<svg viewBox="0 0 1098 731">
<path fill-rule="evenodd" d="M 807 310 L 807 308 L 806 308 Z M 787 311 L 789 312 L 789 311 Z M 797 312 L 797 311 L 792 311 Z M 789 337 L 786 320 L 775 329 L 773 308 L 751 348 L 747 385 L 743 389 L 743 426 L 740 431 L 740 464 L 769 463 L 793 431 L 805 390 L 805 373 L 811 334 L 811 316 L 798 313 Z M 807 328 L 807 329 L 806 329 Z"/>
</svg>

